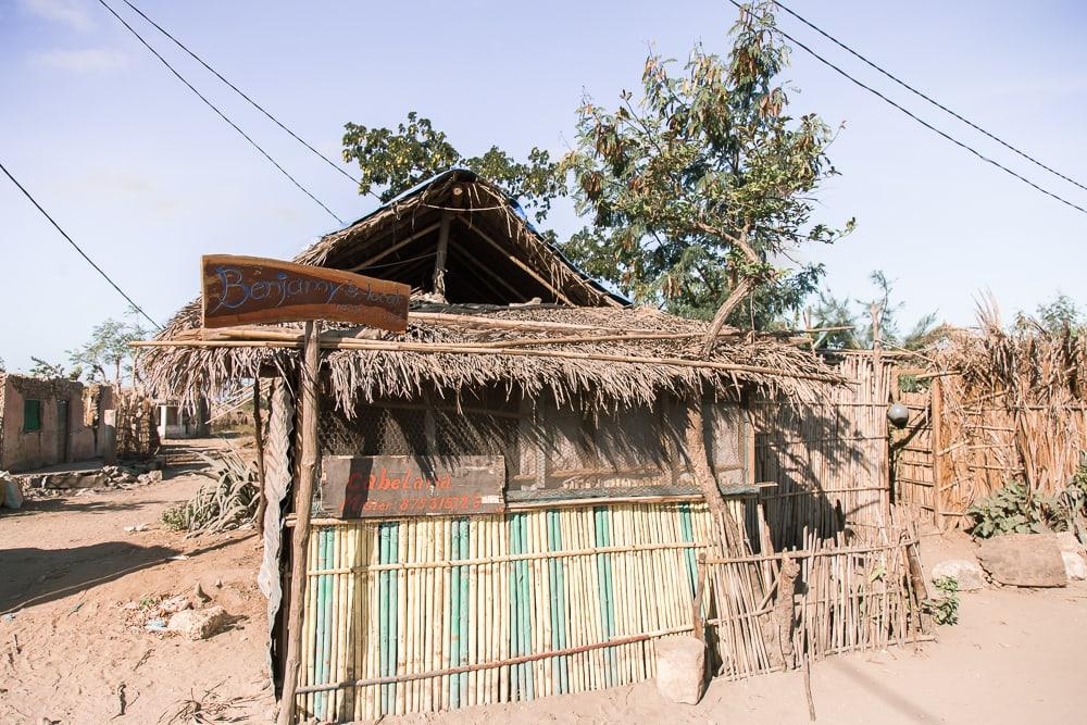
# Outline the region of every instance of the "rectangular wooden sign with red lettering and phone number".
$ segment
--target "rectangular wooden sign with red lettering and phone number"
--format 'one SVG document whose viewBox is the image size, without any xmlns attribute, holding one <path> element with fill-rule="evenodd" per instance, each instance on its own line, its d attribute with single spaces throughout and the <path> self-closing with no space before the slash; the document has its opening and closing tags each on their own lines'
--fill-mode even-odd
<svg viewBox="0 0 1087 725">
<path fill-rule="evenodd" d="M 505 510 L 501 455 L 326 455 L 322 471 L 325 516 L 460 516 Z"/>
</svg>

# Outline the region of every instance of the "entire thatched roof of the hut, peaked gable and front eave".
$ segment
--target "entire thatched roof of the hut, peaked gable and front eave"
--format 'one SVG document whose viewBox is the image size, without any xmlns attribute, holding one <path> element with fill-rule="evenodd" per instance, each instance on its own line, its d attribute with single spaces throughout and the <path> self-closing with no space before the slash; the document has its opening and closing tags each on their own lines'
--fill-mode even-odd
<svg viewBox="0 0 1087 725">
<path fill-rule="evenodd" d="M 449 209 L 457 210 L 457 232 L 449 237 L 449 302 L 436 304 L 425 301 L 433 297 L 428 250 L 436 245 L 435 214 Z M 699 338 L 707 323 L 623 307 L 622 298 L 588 279 L 540 237 L 498 187 L 467 172 L 435 177 L 326 236 L 295 261 L 371 273 L 418 292 L 402 335 L 334 326 L 323 337 L 330 392 L 349 413 L 359 401 L 455 397 L 486 387 L 614 409 L 651 404 L 662 392 L 741 386 L 811 398 L 836 380 L 810 353 L 727 328 L 702 360 Z M 377 268 L 384 264 L 389 266 Z M 153 395 L 230 392 L 241 378 L 270 367 L 293 375 L 298 326 L 223 333 L 202 330 L 200 324 L 197 300 L 159 335 L 166 347 L 141 352 Z M 258 337 L 265 341 L 242 341 Z"/>
</svg>

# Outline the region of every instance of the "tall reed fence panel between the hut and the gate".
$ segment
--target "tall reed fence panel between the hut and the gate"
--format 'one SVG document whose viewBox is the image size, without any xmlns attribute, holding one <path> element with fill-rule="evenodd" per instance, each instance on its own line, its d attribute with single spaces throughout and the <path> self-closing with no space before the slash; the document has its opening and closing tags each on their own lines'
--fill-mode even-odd
<svg viewBox="0 0 1087 725">
<path fill-rule="evenodd" d="M 890 473 L 887 403 L 891 365 L 847 354 L 840 386 L 815 403 L 752 401 L 755 480 L 774 549 L 802 546 L 808 527 L 820 538 L 844 529 L 877 538 L 888 523 Z"/>
</svg>

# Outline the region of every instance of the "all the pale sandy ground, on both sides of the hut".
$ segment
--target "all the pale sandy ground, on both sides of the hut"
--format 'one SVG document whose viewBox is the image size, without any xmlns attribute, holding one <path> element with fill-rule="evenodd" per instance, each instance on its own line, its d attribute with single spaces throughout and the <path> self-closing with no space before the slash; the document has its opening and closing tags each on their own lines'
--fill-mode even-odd
<svg viewBox="0 0 1087 725">
<path fill-rule="evenodd" d="M 0 616 L 0 723 L 167 723 L 188 699 L 233 704 L 221 713 L 238 718 L 229 722 L 272 721 L 255 537 L 185 539 L 158 524 L 204 480 L 172 473 L 0 515 L 0 612 L 13 614 Z M 124 530 L 137 524 L 150 528 Z M 930 538 L 922 552 L 935 561 L 969 549 Z M 187 559 L 170 559 L 178 554 Z M 141 600 L 197 582 L 234 616 L 227 629 L 188 641 L 142 628 Z M 825 723 L 1084 722 L 1087 585 L 964 593 L 961 624 L 942 627 L 939 642 L 817 662 L 812 688 Z M 695 707 L 663 699 L 650 682 L 385 722 L 761 724 L 805 723 L 808 713 L 802 678 L 788 673 L 716 680 Z"/>
</svg>

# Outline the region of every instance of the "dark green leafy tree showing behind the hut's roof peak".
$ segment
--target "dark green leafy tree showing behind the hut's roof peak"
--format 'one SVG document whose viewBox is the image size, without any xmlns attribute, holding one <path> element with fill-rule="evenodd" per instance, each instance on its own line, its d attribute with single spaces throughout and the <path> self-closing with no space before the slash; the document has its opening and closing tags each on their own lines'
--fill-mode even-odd
<svg viewBox="0 0 1087 725">
<path fill-rule="evenodd" d="M 539 223 L 547 217 L 551 202 L 565 195 L 559 164 L 551 161 L 546 150 L 533 148 L 524 163 L 497 146 L 483 155 L 464 157 L 443 132 L 436 130 L 429 118 L 415 111 L 410 111 L 407 122 L 399 124 L 396 130 L 353 123 L 345 125 L 343 130 L 343 160 L 358 162 L 362 172 L 359 193 L 383 187 L 378 195 L 382 201 L 389 201 L 454 166 L 496 182 L 510 196 L 520 199 Z"/>
</svg>

